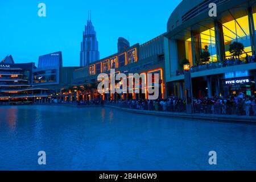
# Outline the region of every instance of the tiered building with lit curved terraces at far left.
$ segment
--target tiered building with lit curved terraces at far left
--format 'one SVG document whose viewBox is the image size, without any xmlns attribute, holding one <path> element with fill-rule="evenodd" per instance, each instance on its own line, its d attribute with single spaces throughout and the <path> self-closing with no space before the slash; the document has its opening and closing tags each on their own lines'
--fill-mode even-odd
<svg viewBox="0 0 256 182">
<path fill-rule="evenodd" d="M 32 88 L 34 63 L 15 64 L 4 59 L 0 63 L 0 104 L 39 102 L 49 99 L 48 89 Z"/>
</svg>

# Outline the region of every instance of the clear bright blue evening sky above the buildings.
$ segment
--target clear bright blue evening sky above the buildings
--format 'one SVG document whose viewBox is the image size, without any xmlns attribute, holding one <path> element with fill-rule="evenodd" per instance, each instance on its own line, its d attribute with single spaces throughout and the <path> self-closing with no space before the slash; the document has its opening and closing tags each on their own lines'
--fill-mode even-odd
<svg viewBox="0 0 256 182">
<path fill-rule="evenodd" d="M 46 3 L 46 17 L 38 4 Z M 117 52 L 119 36 L 130 44 L 144 43 L 166 32 L 167 20 L 181 0 L 1 0 L 0 61 L 8 54 L 15 63 L 62 51 L 64 66 L 79 66 L 82 31 L 92 11 L 100 58 Z"/>
</svg>

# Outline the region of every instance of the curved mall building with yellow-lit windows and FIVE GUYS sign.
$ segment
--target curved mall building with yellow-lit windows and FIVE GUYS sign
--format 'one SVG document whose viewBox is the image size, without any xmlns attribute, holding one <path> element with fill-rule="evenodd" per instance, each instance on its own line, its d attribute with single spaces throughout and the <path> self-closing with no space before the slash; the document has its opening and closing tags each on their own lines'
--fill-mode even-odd
<svg viewBox="0 0 256 182">
<path fill-rule="evenodd" d="M 217 16 L 209 16 L 210 3 L 217 5 Z M 255 0 L 183 0 L 168 19 L 164 38 L 168 96 L 185 97 L 184 60 L 195 97 L 255 95 L 255 30 Z M 230 55 L 233 42 L 244 46 L 240 60 Z"/>
</svg>

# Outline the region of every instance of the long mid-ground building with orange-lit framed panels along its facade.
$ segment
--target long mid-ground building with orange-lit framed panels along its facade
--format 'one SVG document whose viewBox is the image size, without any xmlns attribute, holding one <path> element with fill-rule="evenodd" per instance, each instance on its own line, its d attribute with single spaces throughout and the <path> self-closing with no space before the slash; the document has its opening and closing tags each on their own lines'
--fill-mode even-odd
<svg viewBox="0 0 256 182">
<path fill-rule="evenodd" d="M 94 61 L 89 64 L 88 67 L 76 69 L 73 74 L 73 86 L 76 88 L 83 87 L 86 84 L 98 83 L 97 76 L 100 73 L 110 74 L 110 69 L 115 69 L 116 73 L 125 73 L 127 76 L 129 73 L 138 73 L 147 75 L 147 73 L 159 73 L 159 98 L 166 97 L 164 94 L 164 47 L 163 47 L 164 35 L 160 35 L 144 44 L 135 44 L 127 47 L 114 55 L 105 57 L 104 59 Z M 97 87 L 96 87 L 97 88 Z M 134 89 L 129 88 L 128 89 Z M 123 100 L 131 99 L 147 99 L 147 85 L 142 88 L 140 84 L 139 93 L 127 93 L 127 94 L 99 94 L 97 89 L 93 92 L 79 92 L 76 93 L 77 100 Z M 146 90 L 146 94 L 142 93 L 142 90 Z"/>
</svg>

